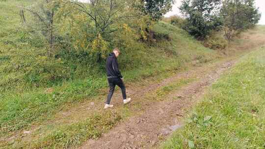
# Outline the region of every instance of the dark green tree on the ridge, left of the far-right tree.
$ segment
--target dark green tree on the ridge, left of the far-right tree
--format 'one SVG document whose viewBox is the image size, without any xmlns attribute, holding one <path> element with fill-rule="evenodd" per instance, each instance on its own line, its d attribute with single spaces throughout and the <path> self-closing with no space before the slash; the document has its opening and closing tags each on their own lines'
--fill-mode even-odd
<svg viewBox="0 0 265 149">
<path fill-rule="evenodd" d="M 183 0 L 180 7 L 185 16 L 184 29 L 196 38 L 205 38 L 222 25 L 219 16 L 221 0 Z"/>
</svg>

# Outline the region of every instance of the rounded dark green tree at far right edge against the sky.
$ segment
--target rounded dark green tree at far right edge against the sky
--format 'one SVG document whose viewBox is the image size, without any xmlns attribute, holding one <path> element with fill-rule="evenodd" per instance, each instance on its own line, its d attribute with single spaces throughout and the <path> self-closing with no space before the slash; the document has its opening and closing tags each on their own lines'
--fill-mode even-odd
<svg viewBox="0 0 265 149">
<path fill-rule="evenodd" d="M 241 31 L 256 25 L 261 17 L 254 0 L 225 0 L 221 9 L 225 37 L 231 41 Z"/>
</svg>

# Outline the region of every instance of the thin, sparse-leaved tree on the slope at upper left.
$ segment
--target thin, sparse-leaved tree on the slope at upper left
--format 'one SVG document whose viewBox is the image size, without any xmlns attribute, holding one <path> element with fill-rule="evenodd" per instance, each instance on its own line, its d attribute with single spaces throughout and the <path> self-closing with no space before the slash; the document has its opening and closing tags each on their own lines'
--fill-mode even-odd
<svg viewBox="0 0 265 149">
<path fill-rule="evenodd" d="M 56 31 L 54 16 L 58 7 L 59 5 L 55 0 L 41 0 L 36 5 L 24 8 L 24 10 L 30 12 L 34 17 L 31 27 L 33 27 L 35 31 L 39 32 L 46 39 L 49 45 L 49 48 L 47 48 L 47 55 L 50 57 L 52 56 L 54 49 L 53 46 Z M 23 9 L 20 14 L 21 16 L 24 15 Z M 26 22 L 26 20 L 23 21 Z M 30 24 L 27 25 L 29 26 Z"/>
</svg>

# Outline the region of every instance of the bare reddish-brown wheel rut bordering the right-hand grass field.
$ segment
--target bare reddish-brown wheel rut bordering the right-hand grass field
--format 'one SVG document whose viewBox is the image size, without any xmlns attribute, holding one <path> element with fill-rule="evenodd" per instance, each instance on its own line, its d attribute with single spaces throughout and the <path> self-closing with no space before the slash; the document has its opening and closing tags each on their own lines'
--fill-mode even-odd
<svg viewBox="0 0 265 149">
<path fill-rule="evenodd" d="M 206 75 L 198 70 L 198 81 L 192 82 L 175 93 L 167 96 L 168 100 L 148 105 L 140 116 L 130 118 L 118 124 L 104 134 L 99 140 L 88 140 L 80 149 L 151 149 L 154 148 L 171 131 L 182 124 L 179 118 L 201 96 L 205 88 L 212 84 L 220 74 L 235 63 L 230 60 L 218 64 Z M 201 69 L 200 71 L 203 71 Z M 200 72 L 199 71 L 199 72 Z M 191 72 L 190 72 L 191 73 Z M 180 76 L 180 75 L 177 75 Z M 173 78 L 165 80 L 172 81 Z M 176 99 L 176 97 L 178 99 Z"/>
</svg>

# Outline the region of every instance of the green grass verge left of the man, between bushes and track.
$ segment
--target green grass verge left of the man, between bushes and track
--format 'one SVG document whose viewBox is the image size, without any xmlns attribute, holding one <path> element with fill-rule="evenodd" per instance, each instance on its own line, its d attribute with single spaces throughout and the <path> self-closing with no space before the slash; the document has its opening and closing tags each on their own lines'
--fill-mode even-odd
<svg viewBox="0 0 265 149">
<path fill-rule="evenodd" d="M 42 121 L 52 117 L 54 108 L 64 102 L 78 102 L 80 99 L 95 96 L 98 89 L 105 85 L 103 80 L 84 79 L 64 83 L 48 89 L 39 89 L 24 94 L 7 96 L 1 100 L 2 120 L 4 131 L 18 130 L 32 121 Z M 49 90 L 50 89 L 50 90 Z M 59 109 L 57 109 L 59 110 Z"/>
</svg>

